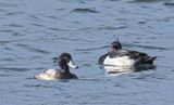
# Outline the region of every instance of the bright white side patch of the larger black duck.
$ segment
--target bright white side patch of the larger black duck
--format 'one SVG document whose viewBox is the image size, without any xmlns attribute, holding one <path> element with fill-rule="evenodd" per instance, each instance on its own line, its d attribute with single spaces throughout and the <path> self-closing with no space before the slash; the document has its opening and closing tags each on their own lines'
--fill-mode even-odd
<svg viewBox="0 0 174 105">
<path fill-rule="evenodd" d="M 110 58 L 109 56 L 105 57 L 103 64 L 104 65 L 113 65 L 113 66 L 134 66 L 135 61 L 130 60 L 128 56 L 120 56 Z"/>
</svg>

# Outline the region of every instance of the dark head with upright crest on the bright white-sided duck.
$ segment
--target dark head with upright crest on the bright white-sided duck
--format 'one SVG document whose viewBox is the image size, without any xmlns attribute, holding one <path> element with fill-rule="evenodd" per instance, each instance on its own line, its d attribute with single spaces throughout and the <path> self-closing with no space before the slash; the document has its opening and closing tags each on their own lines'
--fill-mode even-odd
<svg viewBox="0 0 174 105">
<path fill-rule="evenodd" d="M 116 41 L 111 42 L 109 52 L 117 51 L 121 49 L 122 49 L 122 44 L 120 43 L 119 38 L 117 38 Z"/>
</svg>

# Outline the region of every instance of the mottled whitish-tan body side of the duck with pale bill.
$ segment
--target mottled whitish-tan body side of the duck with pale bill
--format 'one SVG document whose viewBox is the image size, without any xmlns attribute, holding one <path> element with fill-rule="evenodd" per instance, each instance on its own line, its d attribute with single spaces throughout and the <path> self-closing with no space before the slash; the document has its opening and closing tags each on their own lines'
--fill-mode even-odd
<svg viewBox="0 0 174 105">
<path fill-rule="evenodd" d="M 41 74 L 38 74 L 35 76 L 36 79 L 41 79 L 41 80 L 55 80 L 55 69 L 48 69 Z"/>
</svg>

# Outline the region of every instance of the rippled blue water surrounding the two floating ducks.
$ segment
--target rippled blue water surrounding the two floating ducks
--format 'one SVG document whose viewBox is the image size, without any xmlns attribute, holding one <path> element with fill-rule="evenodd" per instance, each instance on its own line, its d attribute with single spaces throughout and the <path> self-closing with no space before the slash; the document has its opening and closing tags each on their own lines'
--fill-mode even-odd
<svg viewBox="0 0 174 105">
<path fill-rule="evenodd" d="M 173 105 L 173 0 L 0 0 L 1 105 Z M 158 56 L 156 69 L 110 76 L 111 41 Z M 33 77 L 70 52 L 79 80 Z"/>
</svg>

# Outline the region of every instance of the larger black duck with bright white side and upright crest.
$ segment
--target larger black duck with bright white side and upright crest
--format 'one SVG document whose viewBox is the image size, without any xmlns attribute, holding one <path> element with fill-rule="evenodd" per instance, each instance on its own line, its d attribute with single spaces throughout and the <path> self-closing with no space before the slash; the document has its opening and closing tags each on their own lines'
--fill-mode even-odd
<svg viewBox="0 0 174 105">
<path fill-rule="evenodd" d="M 152 65 L 157 56 L 149 56 L 147 53 L 122 49 L 119 41 L 111 42 L 108 53 L 101 55 L 98 63 L 101 65 L 113 65 L 124 67 L 140 67 Z"/>
</svg>

